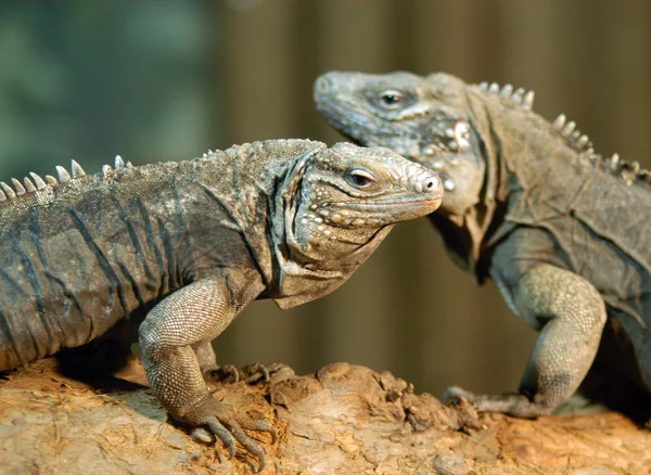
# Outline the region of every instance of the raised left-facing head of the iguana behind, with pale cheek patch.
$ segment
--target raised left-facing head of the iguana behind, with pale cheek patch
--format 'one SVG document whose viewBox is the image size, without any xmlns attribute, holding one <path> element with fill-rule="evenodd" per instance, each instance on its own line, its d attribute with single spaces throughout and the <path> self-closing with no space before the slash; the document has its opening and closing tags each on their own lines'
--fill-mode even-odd
<svg viewBox="0 0 651 475">
<path fill-rule="evenodd" d="M 480 200 L 485 163 L 468 87 L 446 74 L 328 73 L 315 82 L 317 108 L 363 145 L 386 146 L 441 175 L 442 210 L 462 215 Z"/>
</svg>

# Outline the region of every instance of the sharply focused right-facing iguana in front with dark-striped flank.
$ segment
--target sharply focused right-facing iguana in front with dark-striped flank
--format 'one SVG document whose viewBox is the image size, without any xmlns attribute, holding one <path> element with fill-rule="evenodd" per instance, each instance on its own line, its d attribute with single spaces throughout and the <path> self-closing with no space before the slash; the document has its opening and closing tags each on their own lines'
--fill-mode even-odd
<svg viewBox="0 0 651 475">
<path fill-rule="evenodd" d="M 238 440 L 259 468 L 264 451 L 243 428 L 275 429 L 208 393 L 210 341 L 256 298 L 285 309 L 332 292 L 443 193 L 435 174 L 386 149 L 309 140 L 58 172 L 0 183 L 0 370 L 142 322 L 153 394 L 230 457 Z"/>
</svg>

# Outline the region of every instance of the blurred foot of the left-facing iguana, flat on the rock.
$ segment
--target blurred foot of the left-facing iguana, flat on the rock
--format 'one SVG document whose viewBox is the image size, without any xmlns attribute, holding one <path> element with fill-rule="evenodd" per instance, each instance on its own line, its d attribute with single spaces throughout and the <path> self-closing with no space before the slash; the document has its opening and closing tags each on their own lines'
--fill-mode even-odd
<svg viewBox="0 0 651 475">
<path fill-rule="evenodd" d="M 551 410 L 522 394 L 475 395 L 458 386 L 451 386 L 443 395 L 443 402 L 455 405 L 464 398 L 480 412 L 501 412 L 516 418 L 534 419 L 549 414 Z"/>
</svg>

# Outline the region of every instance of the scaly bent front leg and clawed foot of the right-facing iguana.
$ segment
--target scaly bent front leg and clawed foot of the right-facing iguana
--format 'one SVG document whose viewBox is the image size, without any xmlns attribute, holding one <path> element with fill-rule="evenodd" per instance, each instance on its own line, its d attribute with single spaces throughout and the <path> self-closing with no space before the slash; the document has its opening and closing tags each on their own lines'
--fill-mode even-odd
<svg viewBox="0 0 651 475">
<path fill-rule="evenodd" d="M 229 450 L 235 440 L 256 455 L 264 466 L 263 449 L 250 438 L 247 429 L 276 431 L 264 421 L 237 418 L 232 410 L 207 390 L 202 374 L 205 344 L 217 337 L 239 311 L 260 292 L 259 282 L 251 283 L 245 273 L 231 271 L 228 279 L 214 277 L 194 282 L 175 292 L 146 316 L 140 325 L 141 359 L 154 395 L 178 421 L 207 427 Z M 209 352 L 209 351 L 208 351 Z M 209 355 L 208 355 L 209 357 Z M 214 354 L 213 354 L 214 357 Z"/>
</svg>

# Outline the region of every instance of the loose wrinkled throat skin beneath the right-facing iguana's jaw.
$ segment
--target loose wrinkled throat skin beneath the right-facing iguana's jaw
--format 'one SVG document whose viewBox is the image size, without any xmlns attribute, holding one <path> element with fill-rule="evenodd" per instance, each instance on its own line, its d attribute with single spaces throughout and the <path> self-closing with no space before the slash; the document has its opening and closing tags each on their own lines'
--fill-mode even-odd
<svg viewBox="0 0 651 475">
<path fill-rule="evenodd" d="M 296 172 L 297 169 L 298 174 Z M 394 224 L 368 228 L 329 226 L 312 209 L 305 164 L 279 187 L 271 217 L 271 246 L 277 261 L 269 296 L 282 308 L 320 298 L 341 284 L 373 253 Z"/>
</svg>

